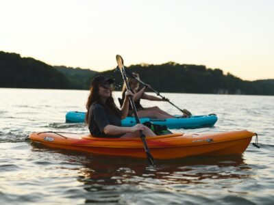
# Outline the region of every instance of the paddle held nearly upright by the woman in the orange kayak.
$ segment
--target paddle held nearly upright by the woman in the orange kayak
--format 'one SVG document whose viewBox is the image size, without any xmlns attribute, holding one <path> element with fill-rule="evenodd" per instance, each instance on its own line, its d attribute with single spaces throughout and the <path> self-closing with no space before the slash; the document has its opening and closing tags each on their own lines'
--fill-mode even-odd
<svg viewBox="0 0 274 205">
<path fill-rule="evenodd" d="M 127 75 L 125 74 L 124 60 L 121 57 L 121 55 L 116 55 L 116 61 L 117 61 L 117 64 L 118 64 L 118 68 L 121 71 L 123 80 L 125 81 L 125 85 L 127 87 L 127 90 L 130 90 L 129 85 L 127 83 Z M 129 102 L 132 105 L 132 109 L 134 111 L 135 120 L 136 120 L 137 124 L 140 124 L 140 120 L 139 120 L 138 113 L 136 111 L 136 107 L 135 107 L 134 100 L 133 100 L 132 96 L 129 96 Z M 147 160 L 149 161 L 149 163 L 151 165 L 154 165 L 155 164 L 154 163 L 154 158 L 153 158 L 153 156 L 149 152 L 149 147 L 147 146 L 147 141 L 145 140 L 145 134 L 142 131 L 140 131 L 140 138 L 142 139 L 142 144 L 144 145 L 145 152 L 147 154 Z"/>
</svg>

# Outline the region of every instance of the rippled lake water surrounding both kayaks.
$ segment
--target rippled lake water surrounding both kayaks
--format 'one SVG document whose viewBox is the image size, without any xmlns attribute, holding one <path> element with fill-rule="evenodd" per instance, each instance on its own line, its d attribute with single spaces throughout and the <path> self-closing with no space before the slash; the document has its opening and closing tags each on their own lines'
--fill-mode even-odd
<svg viewBox="0 0 274 205">
<path fill-rule="evenodd" d="M 88 91 L 0 89 L 0 96 L 0 204 L 274 204 L 273 96 L 164 94 L 193 114 L 219 117 L 213 128 L 176 131 L 247 129 L 258 133 L 261 148 L 157 161 L 156 167 L 25 140 L 33 131 L 88 133 L 84 124 L 64 123 L 66 111 L 85 111 Z M 142 104 L 179 113 L 167 102 Z"/>
</svg>

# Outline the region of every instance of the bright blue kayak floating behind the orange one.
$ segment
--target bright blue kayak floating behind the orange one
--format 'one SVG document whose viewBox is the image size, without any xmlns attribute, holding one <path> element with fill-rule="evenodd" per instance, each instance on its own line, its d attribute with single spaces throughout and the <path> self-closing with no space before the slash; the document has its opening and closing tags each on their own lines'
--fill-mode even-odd
<svg viewBox="0 0 274 205">
<path fill-rule="evenodd" d="M 84 122 L 86 113 L 78 111 L 69 111 L 66 113 L 66 122 Z M 152 122 L 153 124 L 165 125 L 170 129 L 174 128 L 201 128 L 214 126 L 218 120 L 214 114 L 193 115 L 191 118 L 169 118 L 164 120 L 140 118 L 140 122 Z M 127 117 L 121 121 L 122 126 L 134 126 L 136 120 L 133 117 Z"/>
</svg>

